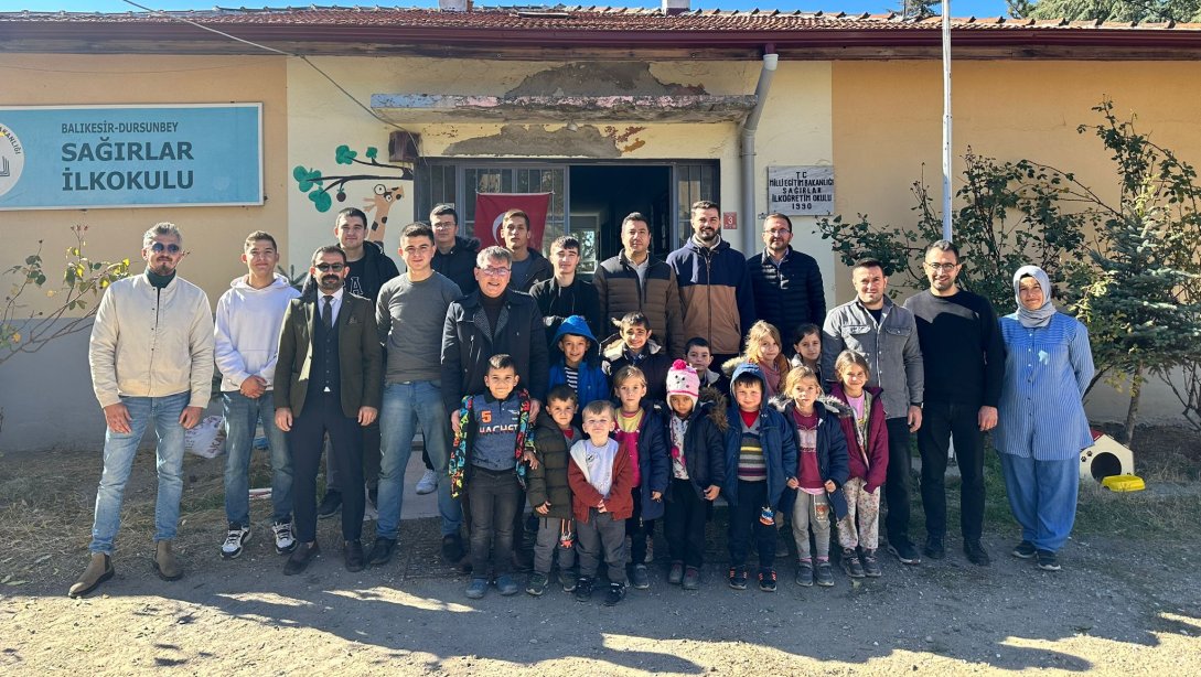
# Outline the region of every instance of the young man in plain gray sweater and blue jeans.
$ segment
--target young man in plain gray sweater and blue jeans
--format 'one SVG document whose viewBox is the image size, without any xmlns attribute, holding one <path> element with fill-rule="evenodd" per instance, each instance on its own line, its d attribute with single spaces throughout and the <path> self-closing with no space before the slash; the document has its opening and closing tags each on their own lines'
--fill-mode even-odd
<svg viewBox="0 0 1201 677">
<path fill-rule="evenodd" d="M 405 467 L 418 426 L 425 451 L 441 481 L 438 513 L 442 515 L 442 556 L 448 562 L 462 558 L 459 526 L 462 511 L 450 497 L 447 460 L 450 441 L 442 403 L 442 323 L 447 307 L 459 298 L 459 286 L 430 266 L 434 230 L 424 223 L 406 226 L 400 234 L 400 258 L 408 271 L 393 277 L 380 289 L 376 323 L 384 345 L 383 409 L 381 412 L 380 519 L 376 541 L 368 562 L 386 564 L 396 546 L 404 498 Z"/>
</svg>

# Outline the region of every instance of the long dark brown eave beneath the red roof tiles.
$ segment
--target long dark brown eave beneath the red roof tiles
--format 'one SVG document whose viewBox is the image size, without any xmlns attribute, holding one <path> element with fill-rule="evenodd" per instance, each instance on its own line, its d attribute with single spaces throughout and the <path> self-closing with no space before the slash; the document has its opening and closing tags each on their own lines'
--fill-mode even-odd
<svg viewBox="0 0 1201 677">
<path fill-rule="evenodd" d="M 695 52 L 709 49 L 759 49 L 771 43 L 779 52 L 789 49 L 862 49 L 862 48 L 930 48 L 942 43 L 937 26 L 874 28 L 871 30 L 806 29 L 797 31 L 579 31 L 527 30 L 496 28 L 414 28 L 346 24 L 289 25 L 231 25 L 214 28 L 250 42 L 277 47 L 280 44 L 322 44 L 321 53 L 336 54 L 336 44 L 345 54 L 374 52 L 376 47 L 418 46 L 478 50 L 482 48 L 513 49 L 537 47 L 540 50 L 579 48 L 650 49 Z M 61 23 L 22 22 L 0 23 L 0 52 L 52 52 L 76 44 L 82 52 L 104 52 L 120 46 L 120 52 L 172 53 L 178 43 L 189 43 L 211 53 L 256 53 L 252 46 L 238 43 L 221 35 L 187 24 L 129 24 L 129 23 Z M 960 29 L 951 35 L 952 48 L 996 49 L 1116 49 L 1142 52 L 1161 50 L 1179 58 L 1187 50 L 1197 50 L 1201 59 L 1201 31 L 1163 29 Z M 190 52 L 196 52 L 197 49 Z M 311 53 L 304 49 L 293 49 Z"/>
</svg>

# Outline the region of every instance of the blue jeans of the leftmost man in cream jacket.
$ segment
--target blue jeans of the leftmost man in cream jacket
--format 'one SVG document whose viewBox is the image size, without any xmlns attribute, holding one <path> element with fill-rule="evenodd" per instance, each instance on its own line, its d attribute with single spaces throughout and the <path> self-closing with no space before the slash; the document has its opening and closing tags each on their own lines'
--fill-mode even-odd
<svg viewBox="0 0 1201 677">
<path fill-rule="evenodd" d="M 147 427 L 154 423 L 159 436 L 155 468 L 159 473 L 159 499 L 154 508 L 154 539 L 172 540 L 179 525 L 179 498 L 184 493 L 184 426 L 179 417 L 191 400 L 190 393 L 165 397 L 126 397 L 121 403 L 130 411 L 130 432 L 109 430 L 104 433 L 104 471 L 96 489 L 96 516 L 91 525 L 91 552 L 113 553 L 113 540 L 121 528 L 121 497 L 133 468 L 133 456 Z"/>
</svg>

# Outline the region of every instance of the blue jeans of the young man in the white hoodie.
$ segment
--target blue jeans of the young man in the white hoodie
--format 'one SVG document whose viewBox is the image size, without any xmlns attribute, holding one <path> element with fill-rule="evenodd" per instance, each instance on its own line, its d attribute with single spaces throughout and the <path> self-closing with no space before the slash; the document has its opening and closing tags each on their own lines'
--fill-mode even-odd
<svg viewBox="0 0 1201 677">
<path fill-rule="evenodd" d="M 226 520 L 250 526 L 250 456 L 255 450 L 255 429 L 262 421 L 271 451 L 273 520 L 292 521 L 292 456 L 283 431 L 275 426 L 275 394 L 258 399 L 237 390 L 221 394 L 226 421 Z"/>
</svg>

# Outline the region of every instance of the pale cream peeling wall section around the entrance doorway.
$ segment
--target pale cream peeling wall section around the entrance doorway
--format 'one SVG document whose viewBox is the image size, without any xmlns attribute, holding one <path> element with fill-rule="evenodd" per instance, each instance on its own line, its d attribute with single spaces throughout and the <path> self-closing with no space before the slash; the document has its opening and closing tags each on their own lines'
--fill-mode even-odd
<svg viewBox="0 0 1201 677">
<path fill-rule="evenodd" d="M 561 67 L 561 62 L 534 61 L 453 61 L 446 59 L 405 58 L 321 58 L 313 59 L 323 71 L 345 88 L 358 102 L 366 104 L 374 94 L 460 94 L 500 96 L 519 86 L 526 78 Z M 670 61 L 650 65 L 650 72 L 663 83 L 704 86 L 711 95 L 753 94 L 759 78 L 760 64 L 716 61 Z M 772 97 L 764 110 L 759 126 L 755 161 L 757 211 L 766 205 L 764 187 L 770 164 L 827 164 L 831 162 L 831 68 L 827 62 L 782 64 L 775 78 Z M 549 92 L 548 92 L 549 94 Z M 596 94 L 610 94 L 599 89 Z M 355 104 L 349 97 L 337 92 L 309 65 L 292 60 L 288 62 L 288 119 L 289 167 L 304 164 L 310 168 L 333 168 L 333 157 L 339 145 L 346 144 L 360 154 L 368 146 L 376 146 L 387 154 L 389 132 L 394 128 Z M 507 156 L 497 154 L 455 154 L 454 144 L 470 139 L 483 139 L 500 133 L 506 122 L 544 127 L 546 132 L 563 128 L 561 122 L 512 119 L 504 121 L 399 121 L 405 131 L 422 136 L 424 157 L 486 157 Z M 647 162 L 653 160 L 718 160 L 721 163 L 721 203 L 724 211 L 741 211 L 740 136 L 735 122 L 639 122 L 613 119 L 594 125 L 602 133 L 605 127 L 615 127 L 617 133 L 638 128 L 619 144 L 621 161 Z M 564 148 L 558 157 L 545 160 L 586 161 L 586 151 Z M 603 160 L 611 161 L 605 157 Z M 346 166 L 337 169 L 348 169 Z M 355 169 L 362 169 L 357 167 Z M 417 166 L 417 172 L 422 166 Z M 318 212 L 309 198 L 291 185 L 288 192 L 289 223 L 292 228 L 291 258 L 303 260 L 312 250 L 330 238 L 333 216 L 341 206 L 368 204 L 376 181 L 364 181 L 347 187 L 345 203 L 336 203 L 327 212 Z M 393 227 L 386 235 L 386 250 L 396 247 L 395 226 L 413 216 L 412 184 L 401 184 L 405 197 L 392 208 Z M 371 216 L 369 214 L 369 216 Z M 805 220 L 800 220 L 805 221 Z M 745 227 L 740 223 L 740 227 Z M 754 224 L 755 227 L 758 224 Z M 814 248 L 809 232 L 800 224 L 797 246 Z M 727 230 L 727 238 L 742 248 L 741 230 Z M 755 240 L 758 245 L 758 240 Z M 752 252 L 753 253 L 753 252 Z M 825 253 L 827 269 L 833 259 Z"/>
</svg>

